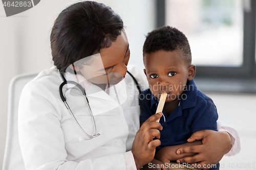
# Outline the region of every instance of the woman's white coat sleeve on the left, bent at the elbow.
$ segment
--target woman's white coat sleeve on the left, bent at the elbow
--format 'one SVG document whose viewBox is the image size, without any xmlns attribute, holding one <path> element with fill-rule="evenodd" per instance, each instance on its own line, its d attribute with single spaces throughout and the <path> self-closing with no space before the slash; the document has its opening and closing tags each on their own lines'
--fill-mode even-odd
<svg viewBox="0 0 256 170">
<path fill-rule="evenodd" d="M 53 93 L 40 83 L 30 83 L 22 92 L 18 110 L 18 135 L 27 170 L 126 169 L 124 153 L 104 157 L 99 154 L 97 158 L 79 161 L 67 160 L 58 106 Z"/>
</svg>

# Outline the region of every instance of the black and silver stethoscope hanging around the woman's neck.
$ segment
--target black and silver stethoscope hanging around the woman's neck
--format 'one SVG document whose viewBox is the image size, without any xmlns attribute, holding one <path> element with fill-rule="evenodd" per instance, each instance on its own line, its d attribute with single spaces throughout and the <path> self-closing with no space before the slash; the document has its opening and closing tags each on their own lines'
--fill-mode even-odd
<svg viewBox="0 0 256 170">
<path fill-rule="evenodd" d="M 70 113 L 71 113 L 72 117 L 74 118 L 74 120 L 75 120 L 77 126 L 80 128 L 80 130 L 83 132 L 83 134 L 88 137 L 88 138 L 79 137 L 79 141 L 89 140 L 89 139 L 92 139 L 92 138 L 94 138 L 94 137 L 99 136 L 100 134 L 103 134 L 103 133 L 104 133 L 103 131 L 100 131 L 99 133 L 96 134 L 96 131 L 97 131 L 97 129 L 96 129 L 96 123 L 95 123 L 95 119 L 94 119 L 94 116 L 93 116 L 91 107 L 90 107 L 90 105 L 89 105 L 89 100 L 88 100 L 88 98 L 87 98 L 87 96 L 86 96 L 86 90 L 85 90 L 80 84 L 78 84 L 78 83 L 76 83 L 76 82 L 74 82 L 74 81 L 67 81 L 66 78 L 63 76 L 63 74 L 61 74 L 61 72 L 59 72 L 59 74 L 60 74 L 60 76 L 61 76 L 61 79 L 63 80 L 63 82 L 62 82 L 62 83 L 60 84 L 60 86 L 59 86 L 59 95 L 60 95 L 60 98 L 61 98 L 61 100 L 64 102 L 64 104 L 65 104 L 65 106 L 67 107 L 67 109 L 70 111 Z M 75 72 L 75 74 L 76 74 L 76 72 Z M 131 72 L 129 72 L 128 70 L 127 70 L 127 74 L 129 74 L 129 75 L 133 78 L 133 80 L 134 80 L 134 82 L 135 82 L 135 84 L 136 84 L 136 87 L 137 87 L 137 89 L 138 89 L 138 91 L 139 91 L 139 94 L 141 94 L 141 90 L 140 90 L 140 86 L 139 86 L 138 81 L 135 79 L 135 77 L 134 77 L 134 76 L 131 74 Z M 94 124 L 94 126 L 93 126 L 93 127 L 94 127 L 94 134 L 93 134 L 93 135 L 89 135 L 88 133 L 86 133 L 86 131 L 83 130 L 83 128 L 80 126 L 80 124 L 78 123 L 78 121 L 77 121 L 75 115 L 73 114 L 72 110 L 71 110 L 70 107 L 69 107 L 69 104 L 68 104 L 68 102 L 67 102 L 67 98 L 66 98 L 66 95 L 65 95 L 65 94 L 66 94 L 66 91 L 67 91 L 69 88 L 65 91 L 64 94 L 63 94 L 63 91 L 62 91 L 63 86 L 66 85 L 66 84 L 69 84 L 69 83 L 75 85 L 76 87 L 78 87 L 78 88 L 81 90 L 82 95 L 84 96 L 84 99 L 86 100 L 86 104 L 87 104 L 87 106 L 88 106 L 88 108 L 89 108 L 90 115 L 91 115 L 91 117 L 92 117 L 92 119 L 93 119 L 93 124 Z"/>
</svg>

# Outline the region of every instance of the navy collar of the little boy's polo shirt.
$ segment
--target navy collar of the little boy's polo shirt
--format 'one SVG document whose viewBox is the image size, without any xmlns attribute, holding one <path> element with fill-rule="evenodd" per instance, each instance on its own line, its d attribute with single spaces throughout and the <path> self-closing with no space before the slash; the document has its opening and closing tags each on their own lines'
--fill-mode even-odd
<svg viewBox="0 0 256 170">
<path fill-rule="evenodd" d="M 151 94 L 151 106 L 150 108 L 152 109 L 153 105 L 158 104 L 158 99 L 152 94 Z M 186 89 L 185 93 L 183 94 L 184 100 L 181 100 L 179 105 L 181 106 L 181 109 L 187 109 L 191 107 L 195 107 L 197 105 L 197 86 L 195 84 L 194 79 L 191 81 L 187 81 L 186 84 Z"/>
</svg>

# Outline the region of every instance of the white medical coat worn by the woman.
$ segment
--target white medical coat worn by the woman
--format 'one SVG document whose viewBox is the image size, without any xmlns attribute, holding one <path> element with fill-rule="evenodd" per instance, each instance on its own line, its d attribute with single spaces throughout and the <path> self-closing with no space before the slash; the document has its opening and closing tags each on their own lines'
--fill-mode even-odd
<svg viewBox="0 0 256 170">
<path fill-rule="evenodd" d="M 129 71 L 140 85 L 146 86 L 137 67 L 131 66 Z M 132 149 L 140 114 L 139 92 L 132 77 L 126 74 L 115 85 L 116 92 L 112 87 L 107 94 L 96 85 L 86 91 L 97 133 L 104 133 L 84 141 L 79 141 L 79 137 L 87 136 L 60 99 L 62 82 L 52 67 L 41 71 L 23 89 L 18 130 L 26 169 L 126 169 L 123 153 Z M 69 91 L 66 96 L 79 124 L 92 135 L 94 124 L 84 98 Z"/>
</svg>

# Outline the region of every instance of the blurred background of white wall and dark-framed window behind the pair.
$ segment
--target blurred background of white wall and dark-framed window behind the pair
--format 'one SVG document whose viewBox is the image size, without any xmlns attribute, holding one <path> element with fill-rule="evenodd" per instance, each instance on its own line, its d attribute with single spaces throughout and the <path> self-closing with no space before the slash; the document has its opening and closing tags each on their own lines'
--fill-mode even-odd
<svg viewBox="0 0 256 170">
<path fill-rule="evenodd" d="M 50 32 L 57 15 L 78 1 L 44 0 L 6 17 L 0 5 L 0 167 L 7 128 L 8 86 L 19 74 L 50 68 Z M 145 35 L 164 25 L 188 38 L 196 84 L 215 102 L 219 118 L 234 127 L 241 151 L 224 156 L 221 169 L 256 169 L 256 1 L 253 0 L 100 0 L 123 19 L 130 42 L 130 64 L 141 70 Z M 254 166 L 253 166 L 254 163 Z M 249 165 L 250 164 L 250 165 Z M 242 168 L 241 168 L 242 167 Z"/>
</svg>

